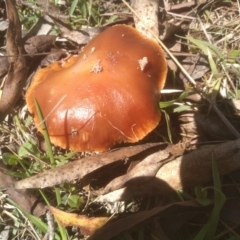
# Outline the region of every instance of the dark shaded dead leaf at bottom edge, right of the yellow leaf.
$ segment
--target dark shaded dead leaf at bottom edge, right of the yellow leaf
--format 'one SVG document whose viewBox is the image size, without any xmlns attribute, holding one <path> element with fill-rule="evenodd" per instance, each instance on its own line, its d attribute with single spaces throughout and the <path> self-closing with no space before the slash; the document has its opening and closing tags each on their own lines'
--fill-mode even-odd
<svg viewBox="0 0 240 240">
<path fill-rule="evenodd" d="M 168 204 L 162 207 L 156 207 L 151 210 L 147 211 L 141 211 L 138 213 L 135 213 L 133 215 L 130 215 L 128 217 L 122 218 L 120 220 L 117 220 L 115 222 L 111 222 L 97 230 L 92 236 L 90 236 L 89 240 L 99 240 L 104 239 L 108 240 L 112 237 L 116 236 L 117 234 L 124 232 L 137 224 L 146 221 L 151 220 L 152 217 L 159 214 L 164 213 L 165 210 L 172 208 L 172 207 L 193 207 L 193 208 L 202 208 L 196 201 L 186 201 L 186 202 L 179 202 L 179 203 L 173 203 Z"/>
</svg>

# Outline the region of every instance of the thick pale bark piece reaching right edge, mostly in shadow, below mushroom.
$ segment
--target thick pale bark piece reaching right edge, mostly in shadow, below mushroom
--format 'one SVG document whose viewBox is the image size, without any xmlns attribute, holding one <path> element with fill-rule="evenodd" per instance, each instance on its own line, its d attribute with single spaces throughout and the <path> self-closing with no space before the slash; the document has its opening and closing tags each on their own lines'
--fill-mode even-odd
<svg viewBox="0 0 240 240">
<path fill-rule="evenodd" d="M 159 154 L 159 153 L 155 153 Z M 99 196 L 96 201 L 126 201 L 138 196 L 168 194 L 172 191 L 197 186 L 212 179 L 212 159 L 218 166 L 221 175 L 240 168 L 240 139 L 223 144 L 205 146 L 173 161 L 164 164 L 151 181 L 142 182 L 133 179 L 124 188 Z M 136 186 L 137 181 L 141 184 Z"/>
</svg>

